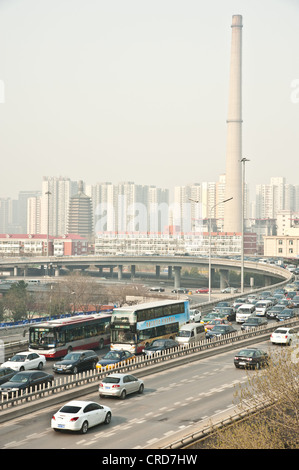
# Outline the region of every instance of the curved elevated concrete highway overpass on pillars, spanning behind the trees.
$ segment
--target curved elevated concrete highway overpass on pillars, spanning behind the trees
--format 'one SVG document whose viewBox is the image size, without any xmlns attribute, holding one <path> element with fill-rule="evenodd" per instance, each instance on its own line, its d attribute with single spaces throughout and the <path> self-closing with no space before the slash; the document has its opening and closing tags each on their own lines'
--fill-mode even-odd
<svg viewBox="0 0 299 470">
<path fill-rule="evenodd" d="M 123 268 L 128 267 L 131 276 L 135 277 L 137 266 L 152 265 L 155 268 L 156 277 L 159 278 L 160 271 L 167 269 L 168 279 L 174 278 L 174 287 L 178 288 L 181 285 L 181 270 L 182 268 L 206 268 L 208 269 L 209 260 L 207 257 L 197 256 L 134 256 L 134 255 L 88 255 L 88 256 L 64 256 L 64 257 L 15 257 L 15 258 L 2 258 L 0 259 L 0 271 L 10 271 L 14 276 L 30 275 L 32 268 L 46 268 L 46 271 L 41 270 L 41 274 L 47 272 L 51 276 L 58 277 L 61 269 L 81 269 L 85 270 L 91 267 L 96 267 L 99 272 L 103 268 L 109 268 L 110 272 L 117 270 L 118 279 L 121 280 L 123 276 Z M 220 273 L 220 288 L 226 287 L 229 271 L 240 271 L 241 261 L 228 258 L 212 258 L 211 259 L 211 272 L 212 272 L 212 287 L 213 287 L 213 273 L 218 270 Z M 292 274 L 286 269 L 256 261 L 244 261 L 244 272 L 254 274 L 262 274 L 264 276 L 264 285 L 271 285 L 276 282 L 282 282 L 292 278 Z"/>
</svg>

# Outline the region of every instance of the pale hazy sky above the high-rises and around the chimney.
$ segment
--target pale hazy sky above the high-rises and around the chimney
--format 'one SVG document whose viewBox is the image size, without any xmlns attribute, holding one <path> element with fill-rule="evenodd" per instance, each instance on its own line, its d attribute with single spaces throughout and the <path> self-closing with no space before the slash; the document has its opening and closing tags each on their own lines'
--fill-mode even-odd
<svg viewBox="0 0 299 470">
<path fill-rule="evenodd" d="M 0 197 L 217 181 L 235 14 L 247 182 L 299 184 L 299 0 L 0 0 Z"/>
</svg>

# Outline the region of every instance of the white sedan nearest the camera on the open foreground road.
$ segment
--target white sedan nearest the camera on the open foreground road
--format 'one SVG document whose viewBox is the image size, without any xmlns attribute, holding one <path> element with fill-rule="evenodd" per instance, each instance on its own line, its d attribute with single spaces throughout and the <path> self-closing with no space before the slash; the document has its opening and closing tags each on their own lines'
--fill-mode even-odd
<svg viewBox="0 0 299 470">
<path fill-rule="evenodd" d="M 54 431 L 80 431 L 85 434 L 92 426 L 109 424 L 111 417 L 111 409 L 108 406 L 93 401 L 73 400 L 52 416 L 51 428 Z"/>
</svg>

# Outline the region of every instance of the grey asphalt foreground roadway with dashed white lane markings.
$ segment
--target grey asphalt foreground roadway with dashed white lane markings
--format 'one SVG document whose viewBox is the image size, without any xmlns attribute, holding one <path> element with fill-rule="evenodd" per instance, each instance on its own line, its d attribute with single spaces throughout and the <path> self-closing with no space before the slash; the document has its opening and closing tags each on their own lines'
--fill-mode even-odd
<svg viewBox="0 0 299 470">
<path fill-rule="evenodd" d="M 156 443 L 158 447 L 161 439 L 184 429 L 187 432 L 201 420 L 232 407 L 235 387 L 247 381 L 247 373 L 233 365 L 237 350 L 146 377 L 144 394 L 124 401 L 99 399 L 98 393 L 80 397 L 112 409 L 110 425 L 92 428 L 87 435 L 52 431 L 50 421 L 57 406 L 2 425 L 1 431 L 6 428 L 7 432 L 1 436 L 1 446 L 130 449 Z"/>
</svg>

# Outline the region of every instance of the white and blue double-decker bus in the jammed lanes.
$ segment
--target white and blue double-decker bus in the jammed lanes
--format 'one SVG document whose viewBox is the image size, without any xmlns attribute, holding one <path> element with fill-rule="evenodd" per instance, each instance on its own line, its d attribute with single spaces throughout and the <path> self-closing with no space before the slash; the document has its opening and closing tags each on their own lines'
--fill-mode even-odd
<svg viewBox="0 0 299 470">
<path fill-rule="evenodd" d="M 155 339 L 174 339 L 180 327 L 189 320 L 188 300 L 163 300 L 115 308 L 111 317 L 110 348 L 139 354 Z"/>
</svg>

